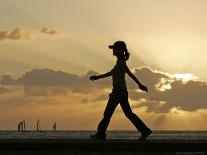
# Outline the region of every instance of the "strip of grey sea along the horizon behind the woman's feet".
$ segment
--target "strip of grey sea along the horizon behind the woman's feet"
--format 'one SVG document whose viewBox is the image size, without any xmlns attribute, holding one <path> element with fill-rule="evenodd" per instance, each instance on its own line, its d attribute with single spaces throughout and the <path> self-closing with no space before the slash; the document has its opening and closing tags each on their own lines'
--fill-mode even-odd
<svg viewBox="0 0 207 155">
<path fill-rule="evenodd" d="M 96 131 L 0 131 L 0 139 L 88 139 Z M 137 131 L 108 131 L 108 139 L 138 139 Z M 207 140 L 207 131 L 153 131 L 153 140 Z"/>
</svg>

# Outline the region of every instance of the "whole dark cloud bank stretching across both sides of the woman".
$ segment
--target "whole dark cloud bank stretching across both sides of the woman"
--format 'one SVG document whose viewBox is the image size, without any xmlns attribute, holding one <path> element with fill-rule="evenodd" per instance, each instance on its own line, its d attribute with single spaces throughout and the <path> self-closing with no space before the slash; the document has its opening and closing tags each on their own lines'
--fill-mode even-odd
<svg viewBox="0 0 207 155">
<path fill-rule="evenodd" d="M 51 69 L 33 69 L 17 79 L 13 79 L 9 75 L 2 75 L 0 77 L 0 94 L 9 91 L 5 88 L 7 85 L 23 86 L 25 94 L 31 96 L 61 95 L 68 91 L 84 94 L 111 88 L 110 77 L 94 82 L 89 81 L 91 75 L 97 74 L 99 73 L 89 71 L 85 75 L 79 76 Z M 207 84 L 205 81 L 183 82 L 179 79 L 172 79 L 168 74 L 155 72 L 148 67 L 135 69 L 134 74 L 149 88 L 149 92 L 137 92 L 138 86 L 127 76 L 129 97 L 135 101 L 144 99 L 139 106 L 147 106 L 148 111 L 168 112 L 173 107 L 186 111 L 207 108 Z M 165 82 L 161 83 L 163 79 Z M 159 89 L 165 85 L 170 85 L 171 89 Z M 101 95 L 92 99 L 91 102 L 103 101 L 104 97 L 107 100 L 106 95 Z"/>
</svg>

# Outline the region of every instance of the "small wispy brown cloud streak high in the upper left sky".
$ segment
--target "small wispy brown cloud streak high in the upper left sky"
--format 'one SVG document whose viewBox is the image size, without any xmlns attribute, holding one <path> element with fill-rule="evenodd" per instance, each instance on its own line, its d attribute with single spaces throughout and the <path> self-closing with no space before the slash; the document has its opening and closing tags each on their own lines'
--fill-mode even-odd
<svg viewBox="0 0 207 155">
<path fill-rule="evenodd" d="M 16 27 L 12 30 L 0 31 L 0 41 L 32 40 L 42 36 L 63 36 L 63 33 L 49 27 L 42 27 L 39 30 Z"/>
</svg>

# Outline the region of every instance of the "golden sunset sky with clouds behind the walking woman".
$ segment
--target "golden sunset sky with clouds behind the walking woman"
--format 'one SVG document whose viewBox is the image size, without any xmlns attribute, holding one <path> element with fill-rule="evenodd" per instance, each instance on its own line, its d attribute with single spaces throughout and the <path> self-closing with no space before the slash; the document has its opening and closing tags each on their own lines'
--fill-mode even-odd
<svg viewBox="0 0 207 155">
<path fill-rule="evenodd" d="M 0 0 L 0 130 L 95 130 L 126 42 L 132 110 L 155 130 L 206 130 L 206 0 Z M 9 117 L 8 117 L 9 116 Z M 84 118 L 84 119 L 83 119 Z M 196 124 L 196 125 L 195 125 Z M 135 130 L 117 108 L 112 130 Z"/>
</svg>

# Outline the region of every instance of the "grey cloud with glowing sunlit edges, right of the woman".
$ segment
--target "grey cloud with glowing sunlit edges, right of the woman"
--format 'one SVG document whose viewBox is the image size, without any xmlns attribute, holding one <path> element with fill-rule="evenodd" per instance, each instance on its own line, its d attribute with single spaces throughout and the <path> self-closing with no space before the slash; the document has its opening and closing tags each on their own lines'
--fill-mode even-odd
<svg viewBox="0 0 207 155">
<path fill-rule="evenodd" d="M 170 74 L 153 71 L 149 68 L 135 70 L 135 75 L 149 87 L 149 93 L 138 93 L 130 90 L 131 98 L 137 100 L 145 98 L 142 103 L 149 111 L 169 112 L 173 107 L 182 110 L 195 111 L 207 108 L 207 83 L 199 80 L 176 79 Z M 165 82 L 161 82 L 165 79 Z M 168 86 L 167 89 L 158 89 Z"/>
</svg>

